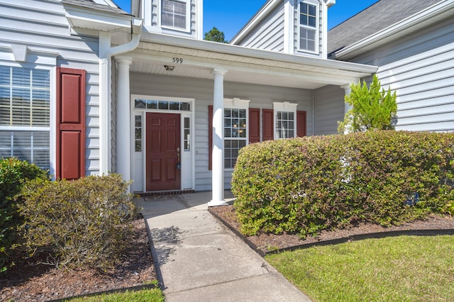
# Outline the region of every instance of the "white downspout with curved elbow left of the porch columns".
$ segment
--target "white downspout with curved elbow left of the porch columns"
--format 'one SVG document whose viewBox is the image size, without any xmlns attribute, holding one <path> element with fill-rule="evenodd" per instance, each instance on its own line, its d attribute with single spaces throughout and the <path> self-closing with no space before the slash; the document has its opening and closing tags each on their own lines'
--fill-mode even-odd
<svg viewBox="0 0 454 302">
<path fill-rule="evenodd" d="M 135 50 L 140 42 L 143 19 L 131 18 L 131 40 L 111 47 L 111 33 L 99 32 L 99 174 L 111 169 L 111 57 Z"/>
</svg>

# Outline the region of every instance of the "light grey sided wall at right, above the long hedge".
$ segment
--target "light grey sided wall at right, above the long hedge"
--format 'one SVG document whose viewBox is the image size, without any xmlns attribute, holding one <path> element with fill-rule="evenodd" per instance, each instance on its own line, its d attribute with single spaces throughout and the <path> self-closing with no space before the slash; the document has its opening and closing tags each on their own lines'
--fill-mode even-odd
<svg viewBox="0 0 454 302">
<path fill-rule="evenodd" d="M 378 65 L 397 93 L 397 130 L 454 131 L 454 19 L 352 61 Z"/>
</svg>

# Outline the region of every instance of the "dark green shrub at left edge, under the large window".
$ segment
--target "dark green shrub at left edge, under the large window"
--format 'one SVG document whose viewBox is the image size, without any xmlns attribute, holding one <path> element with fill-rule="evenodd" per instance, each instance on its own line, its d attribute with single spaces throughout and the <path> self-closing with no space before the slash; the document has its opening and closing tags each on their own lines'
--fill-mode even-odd
<svg viewBox="0 0 454 302">
<path fill-rule="evenodd" d="M 47 179 L 47 172 L 35 164 L 15 157 L 0 160 L 0 272 L 14 260 L 13 245 L 18 241 L 17 227 L 22 224 L 17 201 L 13 196 L 21 191 L 26 179 Z"/>
</svg>

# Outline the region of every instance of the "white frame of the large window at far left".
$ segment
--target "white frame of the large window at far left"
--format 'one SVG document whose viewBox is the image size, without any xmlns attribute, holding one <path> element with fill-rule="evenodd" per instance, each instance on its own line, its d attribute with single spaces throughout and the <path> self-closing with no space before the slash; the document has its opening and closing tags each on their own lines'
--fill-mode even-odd
<svg viewBox="0 0 454 302">
<path fill-rule="evenodd" d="M 56 121 L 56 69 L 55 65 L 52 66 L 52 63 L 56 63 L 55 57 L 53 54 L 50 54 L 51 57 L 40 57 L 38 56 L 38 62 L 36 64 L 22 62 L 18 64 L 14 61 L 6 61 L 1 60 L 3 55 L 0 53 L 0 65 L 6 67 L 18 67 L 18 68 L 26 68 L 26 69 L 42 69 L 48 70 L 49 72 L 49 101 L 50 101 L 50 108 L 49 108 L 49 126 L 29 126 L 29 125 L 0 125 L 1 131 L 11 131 L 11 132 L 19 132 L 19 131 L 27 131 L 27 132 L 49 132 L 49 172 L 50 175 L 55 175 L 55 162 L 56 162 L 56 128 L 55 128 L 55 121 Z M 42 62 L 42 63 L 41 63 Z M 50 63 L 50 64 L 49 64 Z M 45 64 L 45 65 L 44 65 Z"/>
</svg>

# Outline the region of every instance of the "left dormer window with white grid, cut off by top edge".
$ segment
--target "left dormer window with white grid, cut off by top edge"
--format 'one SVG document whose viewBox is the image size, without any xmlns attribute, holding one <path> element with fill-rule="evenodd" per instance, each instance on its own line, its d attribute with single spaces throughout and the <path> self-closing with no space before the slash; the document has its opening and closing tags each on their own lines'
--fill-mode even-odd
<svg viewBox="0 0 454 302">
<path fill-rule="evenodd" d="M 189 30 L 189 0 L 161 0 L 161 26 Z"/>
</svg>

